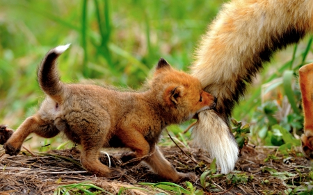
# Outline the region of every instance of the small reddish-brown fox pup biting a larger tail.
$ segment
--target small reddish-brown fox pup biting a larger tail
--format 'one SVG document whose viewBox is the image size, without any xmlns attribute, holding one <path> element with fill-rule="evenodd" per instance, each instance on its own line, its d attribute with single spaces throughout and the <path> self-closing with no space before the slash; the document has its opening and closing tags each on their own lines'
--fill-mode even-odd
<svg viewBox="0 0 313 195">
<path fill-rule="evenodd" d="M 109 169 L 99 162 L 102 147 L 128 147 L 133 152 L 123 158 L 145 161 L 159 176 L 178 181 L 195 178 L 179 173 L 159 151 L 157 142 L 163 128 L 191 119 L 214 108 L 216 98 L 202 90 L 197 78 L 172 69 L 161 58 L 144 92 L 119 92 L 97 85 L 65 84 L 59 80 L 56 59 L 69 44 L 51 49 L 38 69 L 38 82 L 47 98 L 38 112 L 27 118 L 3 148 L 17 155 L 30 133 L 54 137 L 63 132 L 81 144 L 81 164 L 97 176 L 120 176 L 120 169 Z M 4 134 L 10 130 L 3 129 Z M 5 138 L 5 137 L 4 137 Z M 4 141 L 2 141 L 4 142 Z"/>
</svg>

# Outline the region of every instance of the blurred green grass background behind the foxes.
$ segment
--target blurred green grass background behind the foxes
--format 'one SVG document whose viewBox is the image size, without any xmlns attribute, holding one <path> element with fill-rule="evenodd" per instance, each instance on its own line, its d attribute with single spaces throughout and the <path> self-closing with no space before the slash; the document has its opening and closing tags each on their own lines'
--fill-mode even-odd
<svg viewBox="0 0 313 195">
<path fill-rule="evenodd" d="M 38 109 L 44 99 L 38 64 L 60 44 L 72 44 L 59 59 L 64 82 L 137 89 L 161 57 L 188 71 L 201 35 L 225 2 L 0 0 L 0 124 L 17 128 Z M 283 144 L 274 124 L 298 138 L 303 116 L 296 77 L 313 59 L 311 42 L 306 37 L 277 53 L 236 106 L 233 116 L 250 123 L 252 143 Z"/>
</svg>

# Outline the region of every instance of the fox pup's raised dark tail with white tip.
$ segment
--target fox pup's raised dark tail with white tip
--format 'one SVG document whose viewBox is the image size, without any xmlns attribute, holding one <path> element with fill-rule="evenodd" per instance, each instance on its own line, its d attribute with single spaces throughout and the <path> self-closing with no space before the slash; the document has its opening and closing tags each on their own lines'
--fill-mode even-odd
<svg viewBox="0 0 313 195">
<path fill-rule="evenodd" d="M 56 69 L 56 59 L 63 53 L 70 44 L 57 46 L 51 49 L 40 63 L 38 69 L 38 83 L 43 92 L 56 102 L 62 101 L 64 83 L 60 81 L 58 71 Z"/>
</svg>

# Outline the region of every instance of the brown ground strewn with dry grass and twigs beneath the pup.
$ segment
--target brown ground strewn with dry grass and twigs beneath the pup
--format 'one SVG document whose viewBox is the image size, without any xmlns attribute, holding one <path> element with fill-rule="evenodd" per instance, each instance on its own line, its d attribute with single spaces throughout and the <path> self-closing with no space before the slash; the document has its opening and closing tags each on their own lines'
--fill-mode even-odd
<svg viewBox="0 0 313 195">
<path fill-rule="evenodd" d="M 163 154 L 178 171 L 195 172 L 199 178 L 209 169 L 212 160 L 208 154 L 197 149 L 182 149 L 177 146 L 161 147 Z M 34 153 L 22 151 L 17 156 L 6 155 L 0 150 L 0 195 L 1 194 L 54 194 L 60 185 L 89 181 L 112 194 L 121 189 L 141 187 L 143 189 L 127 189 L 122 194 L 175 194 L 162 191 L 141 183 L 159 183 L 165 180 L 150 171 L 141 163 L 136 166 L 122 164 L 119 156 L 122 151 L 106 151 L 109 153 L 111 167 L 122 167 L 125 174 L 120 178 L 99 178 L 87 173 L 79 163 L 79 149 Z M 203 188 L 200 179 L 191 181 L 193 187 L 204 194 L 285 194 L 290 186 L 299 185 L 301 176 L 310 172 L 310 162 L 299 151 L 290 151 L 288 158 L 278 153 L 277 148 L 245 146 L 236 163 L 233 173 L 225 176 L 218 173 L 209 174 L 207 187 Z M 189 157 L 188 157 L 188 156 Z M 271 156 L 272 158 L 268 159 Z M 192 160 L 191 160 L 192 158 Z M 109 158 L 101 153 L 102 163 L 109 165 Z M 198 162 L 198 164 L 196 163 Z M 177 183 L 185 189 L 186 181 Z M 289 185 L 289 187 L 287 187 Z M 124 187 L 124 188 L 122 188 Z M 95 189 L 90 189 L 95 192 Z"/>
</svg>

